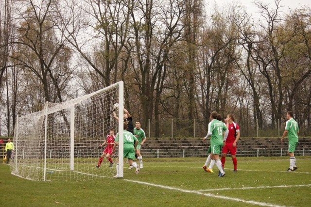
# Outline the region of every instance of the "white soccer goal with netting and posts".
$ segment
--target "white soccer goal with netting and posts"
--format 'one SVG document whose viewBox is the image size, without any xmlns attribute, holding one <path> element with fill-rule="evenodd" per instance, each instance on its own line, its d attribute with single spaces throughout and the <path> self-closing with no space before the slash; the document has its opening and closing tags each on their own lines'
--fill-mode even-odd
<svg viewBox="0 0 311 207">
<path fill-rule="evenodd" d="M 123 82 L 62 103 L 45 104 L 42 111 L 17 118 L 12 153 L 13 175 L 35 181 L 102 179 L 123 177 L 123 122 L 114 119 L 113 105 L 119 103 L 123 120 Z M 120 144 L 96 168 L 109 130 L 120 132 Z"/>
</svg>

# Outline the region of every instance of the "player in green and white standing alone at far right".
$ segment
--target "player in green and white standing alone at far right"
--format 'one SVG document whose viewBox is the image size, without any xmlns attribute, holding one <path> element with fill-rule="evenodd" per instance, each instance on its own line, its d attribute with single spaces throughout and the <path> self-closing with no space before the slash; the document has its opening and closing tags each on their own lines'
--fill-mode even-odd
<svg viewBox="0 0 311 207">
<path fill-rule="evenodd" d="M 287 170 L 288 172 L 292 172 L 298 169 L 296 165 L 296 159 L 294 156 L 294 152 L 298 144 L 299 127 L 293 117 L 294 117 L 294 112 L 288 111 L 286 114 L 287 121 L 285 125 L 285 130 L 281 138 L 281 142 L 283 142 L 284 137 L 288 134 L 288 155 L 290 156 L 290 167 Z"/>
</svg>

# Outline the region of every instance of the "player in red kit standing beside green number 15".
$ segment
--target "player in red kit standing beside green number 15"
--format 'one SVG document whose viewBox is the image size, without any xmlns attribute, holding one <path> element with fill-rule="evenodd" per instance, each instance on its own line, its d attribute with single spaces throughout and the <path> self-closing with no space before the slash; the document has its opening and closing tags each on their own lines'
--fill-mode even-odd
<svg viewBox="0 0 311 207">
<path fill-rule="evenodd" d="M 233 161 L 233 172 L 238 172 L 237 170 L 237 164 L 238 164 L 238 160 L 236 158 L 236 154 L 237 154 L 237 143 L 238 140 L 240 139 L 240 127 L 238 124 L 234 123 L 234 114 L 229 113 L 227 115 L 227 128 L 229 129 L 229 134 L 227 139 L 224 139 L 224 147 L 223 147 L 223 154 L 222 154 L 222 164 L 223 164 L 223 168 L 225 166 L 225 157 L 227 155 L 228 152 L 230 152 L 231 154 L 231 158 Z"/>
</svg>

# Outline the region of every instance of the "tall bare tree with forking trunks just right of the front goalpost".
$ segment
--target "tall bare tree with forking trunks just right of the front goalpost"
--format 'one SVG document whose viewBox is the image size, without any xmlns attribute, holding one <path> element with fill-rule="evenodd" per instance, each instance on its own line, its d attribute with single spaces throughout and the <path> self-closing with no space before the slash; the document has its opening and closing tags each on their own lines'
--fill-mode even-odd
<svg viewBox="0 0 311 207">
<path fill-rule="evenodd" d="M 181 20 L 185 15 L 185 1 L 146 0 L 139 2 L 137 6 L 134 2 L 131 4 L 131 26 L 137 62 L 132 63 L 137 63 L 138 66 L 133 65 L 133 69 L 139 88 L 144 127 L 155 112 L 155 137 L 158 137 L 160 96 L 171 50 L 183 38 L 184 25 Z"/>
</svg>

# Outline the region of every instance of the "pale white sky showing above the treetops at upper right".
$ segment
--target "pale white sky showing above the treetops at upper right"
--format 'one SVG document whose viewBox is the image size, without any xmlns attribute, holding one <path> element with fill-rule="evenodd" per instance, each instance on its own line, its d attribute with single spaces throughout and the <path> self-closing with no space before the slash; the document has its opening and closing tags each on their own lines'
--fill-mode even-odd
<svg viewBox="0 0 311 207">
<path fill-rule="evenodd" d="M 228 3 L 232 3 L 232 1 L 240 2 L 243 6 L 247 8 L 247 13 L 251 14 L 253 17 L 259 17 L 259 9 L 256 5 L 254 5 L 254 0 L 206 0 L 208 4 L 214 4 L 217 2 L 218 5 L 225 5 Z M 263 3 L 269 3 L 271 8 L 275 8 L 275 0 L 257 0 Z M 289 8 L 294 10 L 295 8 L 311 7 L 310 0 L 281 0 L 280 5 L 284 6 L 281 8 L 282 12 L 288 13 Z"/>
</svg>

